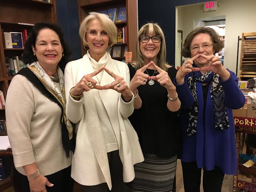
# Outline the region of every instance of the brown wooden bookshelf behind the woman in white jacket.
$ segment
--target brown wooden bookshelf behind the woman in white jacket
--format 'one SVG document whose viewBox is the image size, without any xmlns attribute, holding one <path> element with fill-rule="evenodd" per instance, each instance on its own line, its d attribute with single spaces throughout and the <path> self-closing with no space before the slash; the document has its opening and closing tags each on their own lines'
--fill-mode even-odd
<svg viewBox="0 0 256 192">
<path fill-rule="evenodd" d="M 115 22 L 117 27 L 127 27 L 126 42 L 127 43 L 115 43 L 114 46 L 121 46 L 121 56 L 112 57 L 113 59 L 122 60 L 124 57 L 125 46 L 127 51 L 133 53 L 132 61 L 136 60 L 136 41 L 138 35 L 138 22 L 137 22 L 137 1 L 136 0 L 78 0 L 78 14 L 79 21 L 82 22 L 83 18 L 91 11 L 102 11 L 110 8 L 126 7 L 126 21 Z M 118 14 L 118 11 L 117 11 Z M 113 55 L 113 47 L 111 50 L 111 56 Z M 81 40 L 82 56 L 86 54 L 83 48 L 83 41 Z"/>
</svg>

